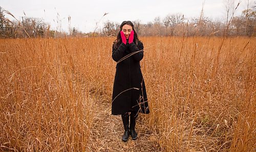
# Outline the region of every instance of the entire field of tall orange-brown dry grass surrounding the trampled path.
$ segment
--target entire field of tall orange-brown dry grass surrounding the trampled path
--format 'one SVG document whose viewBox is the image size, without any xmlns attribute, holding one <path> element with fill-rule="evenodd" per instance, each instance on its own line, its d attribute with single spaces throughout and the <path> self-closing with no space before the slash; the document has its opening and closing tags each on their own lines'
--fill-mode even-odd
<svg viewBox="0 0 256 152">
<path fill-rule="evenodd" d="M 151 113 L 137 123 L 159 151 L 256 150 L 255 38 L 140 39 Z M 0 149 L 88 151 L 114 40 L 0 39 Z"/>
</svg>

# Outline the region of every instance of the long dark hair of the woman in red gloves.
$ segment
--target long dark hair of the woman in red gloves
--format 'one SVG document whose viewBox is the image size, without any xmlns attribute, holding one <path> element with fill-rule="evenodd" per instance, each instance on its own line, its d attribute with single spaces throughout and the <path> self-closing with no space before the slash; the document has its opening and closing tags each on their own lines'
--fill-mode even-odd
<svg viewBox="0 0 256 152">
<path fill-rule="evenodd" d="M 135 45 L 138 45 L 138 42 L 139 42 L 139 38 L 138 38 L 138 35 L 136 33 L 136 31 L 134 30 L 134 25 L 131 21 L 123 21 L 120 25 L 120 28 L 118 30 L 118 33 L 117 33 L 117 39 L 115 40 L 114 42 L 114 48 L 117 49 L 119 47 L 119 45 L 122 43 L 122 39 L 121 39 L 121 34 L 120 34 L 120 31 L 122 30 L 123 26 L 127 24 L 127 25 L 130 25 L 132 28 L 133 28 L 133 31 L 134 31 L 134 39 L 133 39 L 133 42 L 135 43 Z"/>
</svg>

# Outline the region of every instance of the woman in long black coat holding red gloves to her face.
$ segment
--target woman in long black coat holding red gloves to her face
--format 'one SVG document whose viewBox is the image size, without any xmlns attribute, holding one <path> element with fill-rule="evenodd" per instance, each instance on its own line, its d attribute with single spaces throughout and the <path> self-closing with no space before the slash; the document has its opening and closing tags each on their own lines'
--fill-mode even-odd
<svg viewBox="0 0 256 152">
<path fill-rule="evenodd" d="M 143 44 L 138 39 L 131 21 L 123 21 L 112 46 L 112 58 L 117 62 L 112 95 L 112 114 L 121 115 L 124 134 L 123 141 L 131 135 L 137 139 L 135 131 L 138 112 L 148 114 L 145 83 L 140 69 L 143 58 Z M 129 126 L 130 116 L 130 126 Z"/>
</svg>

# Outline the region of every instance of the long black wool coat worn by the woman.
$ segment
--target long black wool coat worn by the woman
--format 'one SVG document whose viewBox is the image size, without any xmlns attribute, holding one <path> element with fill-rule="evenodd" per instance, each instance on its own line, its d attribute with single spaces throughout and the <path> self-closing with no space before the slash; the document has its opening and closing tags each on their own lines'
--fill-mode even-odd
<svg viewBox="0 0 256 152">
<path fill-rule="evenodd" d="M 129 44 L 121 43 L 115 49 L 112 47 L 112 58 L 118 62 L 123 57 L 143 50 L 143 43 L 134 42 Z M 150 113 L 147 102 L 146 87 L 141 73 L 140 61 L 143 58 L 143 51 L 138 52 L 116 65 L 116 74 L 112 94 L 112 114 L 120 115 L 126 112 Z"/>
</svg>

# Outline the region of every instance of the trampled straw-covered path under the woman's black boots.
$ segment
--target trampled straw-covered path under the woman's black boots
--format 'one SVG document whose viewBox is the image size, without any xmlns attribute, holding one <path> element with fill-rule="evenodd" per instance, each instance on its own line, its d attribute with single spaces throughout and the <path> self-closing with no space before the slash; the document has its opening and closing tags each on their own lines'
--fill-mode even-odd
<svg viewBox="0 0 256 152">
<path fill-rule="evenodd" d="M 104 100 L 97 100 L 96 113 L 91 129 L 89 147 L 87 151 L 159 151 L 156 137 L 141 124 L 139 115 L 136 124 L 138 139 L 127 142 L 121 140 L 123 124 L 121 116 L 111 115 L 111 104 Z"/>
</svg>

